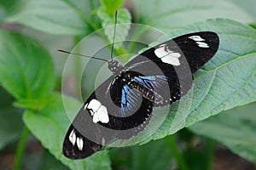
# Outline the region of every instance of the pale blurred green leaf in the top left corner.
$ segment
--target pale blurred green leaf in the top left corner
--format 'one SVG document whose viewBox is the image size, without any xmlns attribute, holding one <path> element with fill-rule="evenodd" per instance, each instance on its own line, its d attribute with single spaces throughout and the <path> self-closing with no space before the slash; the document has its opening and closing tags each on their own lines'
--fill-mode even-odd
<svg viewBox="0 0 256 170">
<path fill-rule="evenodd" d="M 39 31 L 57 35 L 90 32 L 90 13 L 85 13 L 90 11 L 90 1 L 21 0 L 13 10 L 8 22 L 17 22 Z"/>
</svg>

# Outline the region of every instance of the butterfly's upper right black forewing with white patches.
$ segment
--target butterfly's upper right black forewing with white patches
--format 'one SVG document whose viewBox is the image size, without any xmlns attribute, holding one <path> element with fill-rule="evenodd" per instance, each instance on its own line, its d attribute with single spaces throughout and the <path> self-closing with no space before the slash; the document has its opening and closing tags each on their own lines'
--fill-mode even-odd
<svg viewBox="0 0 256 170">
<path fill-rule="evenodd" d="M 138 56 L 131 59 L 126 66 L 147 67 L 148 61 L 153 61 L 156 65 L 168 75 L 172 74 L 170 67 L 183 66 L 189 64 L 189 70 L 192 73 L 198 71 L 218 50 L 219 39 L 215 32 L 201 31 L 175 37 L 169 41 L 162 42 L 159 45 L 149 48 Z M 168 53 L 169 52 L 169 53 Z M 147 60 L 148 59 L 148 60 Z M 171 60 L 174 59 L 172 64 Z M 179 64 L 176 60 L 179 60 Z M 170 60 L 168 62 L 168 60 Z M 149 67 L 150 68 L 150 67 Z"/>
</svg>

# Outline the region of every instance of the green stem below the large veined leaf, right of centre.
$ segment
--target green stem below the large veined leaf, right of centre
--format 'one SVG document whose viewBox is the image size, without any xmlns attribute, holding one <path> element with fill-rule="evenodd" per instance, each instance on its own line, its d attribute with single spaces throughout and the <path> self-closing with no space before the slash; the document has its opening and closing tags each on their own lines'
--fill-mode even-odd
<svg viewBox="0 0 256 170">
<path fill-rule="evenodd" d="M 179 150 L 177 149 L 177 144 L 175 142 L 174 136 L 168 136 L 166 138 L 166 144 L 169 146 L 172 156 L 176 159 L 179 169 L 188 170 L 189 168 L 187 167 L 183 159 L 183 156 L 180 154 Z"/>
</svg>

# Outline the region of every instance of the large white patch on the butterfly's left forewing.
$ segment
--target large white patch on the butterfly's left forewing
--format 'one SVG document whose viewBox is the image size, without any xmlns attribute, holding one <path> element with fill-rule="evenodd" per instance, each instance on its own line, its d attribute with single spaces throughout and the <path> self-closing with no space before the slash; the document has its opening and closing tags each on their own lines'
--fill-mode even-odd
<svg viewBox="0 0 256 170">
<path fill-rule="evenodd" d="M 91 116 L 93 116 L 92 121 L 93 122 L 103 122 L 108 123 L 108 110 L 107 107 L 102 105 L 101 102 L 99 102 L 96 99 L 90 100 L 89 105 L 87 106 L 87 109 L 90 110 Z"/>
</svg>

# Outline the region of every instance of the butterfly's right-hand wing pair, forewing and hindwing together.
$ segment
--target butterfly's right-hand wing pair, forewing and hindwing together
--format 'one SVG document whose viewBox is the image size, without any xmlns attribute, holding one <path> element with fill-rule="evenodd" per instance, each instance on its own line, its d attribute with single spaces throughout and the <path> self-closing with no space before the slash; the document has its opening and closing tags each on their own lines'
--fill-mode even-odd
<svg viewBox="0 0 256 170">
<path fill-rule="evenodd" d="M 210 31 L 195 32 L 162 42 L 131 59 L 125 66 L 144 77 L 140 82 L 164 98 L 163 106 L 180 99 L 192 87 L 193 74 L 218 50 L 218 35 Z M 163 81 L 165 79 L 165 81 Z M 164 83 L 168 83 L 168 91 Z"/>
</svg>

